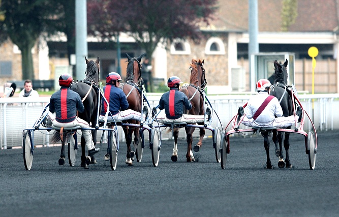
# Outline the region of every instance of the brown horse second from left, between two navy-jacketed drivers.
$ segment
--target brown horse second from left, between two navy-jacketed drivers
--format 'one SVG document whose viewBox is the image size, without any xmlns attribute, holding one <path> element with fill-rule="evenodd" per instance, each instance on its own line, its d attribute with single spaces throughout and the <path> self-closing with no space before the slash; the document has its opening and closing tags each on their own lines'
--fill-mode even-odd
<svg viewBox="0 0 339 217">
<path fill-rule="evenodd" d="M 132 109 L 134 111 L 141 112 L 141 58 L 145 54 L 141 54 L 138 58 L 131 57 L 126 53 L 127 56 L 127 74 L 125 83 L 122 84 L 122 90 L 124 90 L 129 107 L 127 109 Z M 127 123 L 133 123 L 136 125 L 140 125 L 140 121 L 137 120 L 127 120 Z M 132 134 L 134 133 L 134 140 L 133 145 L 136 149 L 139 140 L 139 130 L 138 127 L 131 127 L 131 126 L 122 126 L 122 129 L 124 129 L 125 138 L 126 138 L 126 144 L 127 144 L 127 154 L 126 154 L 126 164 L 133 165 L 133 157 L 135 155 L 135 151 L 132 151 L 131 149 L 131 143 L 132 143 Z"/>
</svg>

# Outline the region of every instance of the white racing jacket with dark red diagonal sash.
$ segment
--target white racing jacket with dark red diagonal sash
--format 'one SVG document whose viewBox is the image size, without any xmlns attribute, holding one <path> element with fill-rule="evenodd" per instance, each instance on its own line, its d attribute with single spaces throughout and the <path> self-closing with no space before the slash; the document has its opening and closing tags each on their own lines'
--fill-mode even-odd
<svg viewBox="0 0 339 217">
<path fill-rule="evenodd" d="M 251 119 L 253 118 L 254 114 L 261 106 L 261 104 L 266 100 L 268 97 L 268 93 L 265 91 L 260 91 L 256 96 L 252 97 L 247 106 L 244 109 L 246 117 Z M 274 97 L 265 107 L 265 109 L 261 112 L 261 114 L 257 117 L 255 122 L 260 123 L 269 123 L 272 122 L 276 117 L 281 117 L 283 115 L 283 109 L 279 104 L 279 101 L 276 97 Z"/>
</svg>

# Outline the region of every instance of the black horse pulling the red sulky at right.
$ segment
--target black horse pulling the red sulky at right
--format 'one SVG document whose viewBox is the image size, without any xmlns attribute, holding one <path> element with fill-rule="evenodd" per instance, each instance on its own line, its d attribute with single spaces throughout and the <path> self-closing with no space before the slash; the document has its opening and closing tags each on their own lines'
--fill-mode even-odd
<svg viewBox="0 0 339 217">
<path fill-rule="evenodd" d="M 287 117 L 290 115 L 293 115 L 293 103 L 292 103 L 292 98 L 287 91 L 287 64 L 288 61 L 286 59 L 285 63 L 278 63 L 278 61 L 274 61 L 274 82 L 273 82 L 273 90 L 270 92 L 270 95 L 278 98 L 279 103 L 283 109 L 283 116 Z M 286 129 L 291 129 L 291 126 L 287 127 Z M 284 154 L 283 154 L 283 148 L 282 148 L 282 143 L 283 143 L 283 137 L 284 137 L 284 132 L 277 132 L 275 129 L 272 130 L 272 140 L 275 144 L 275 155 L 276 157 L 279 157 L 279 162 L 278 166 L 280 168 L 283 168 L 285 166 L 284 162 Z M 269 158 L 269 140 L 268 140 L 268 132 L 263 132 L 262 133 L 264 137 L 264 146 L 266 150 L 266 157 L 267 157 L 267 162 L 266 166 L 268 169 L 272 168 L 271 161 Z M 286 150 L 286 167 L 291 168 L 292 165 L 290 163 L 289 159 L 289 154 L 288 154 L 288 149 L 290 147 L 289 143 L 289 133 L 285 133 L 285 139 L 284 139 L 284 148 Z M 278 147 L 279 143 L 279 147 Z"/>
</svg>

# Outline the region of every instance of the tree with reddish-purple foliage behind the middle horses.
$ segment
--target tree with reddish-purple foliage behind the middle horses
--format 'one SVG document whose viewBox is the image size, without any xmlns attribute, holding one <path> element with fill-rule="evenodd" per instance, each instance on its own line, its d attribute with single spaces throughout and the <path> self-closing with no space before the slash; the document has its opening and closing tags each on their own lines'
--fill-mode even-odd
<svg viewBox="0 0 339 217">
<path fill-rule="evenodd" d="M 88 34 L 111 40 L 125 32 L 148 57 L 158 43 L 203 37 L 199 27 L 213 18 L 217 0 L 96 0 L 87 3 Z M 152 84 L 152 79 L 150 78 Z M 152 85 L 151 91 L 152 91 Z"/>
</svg>

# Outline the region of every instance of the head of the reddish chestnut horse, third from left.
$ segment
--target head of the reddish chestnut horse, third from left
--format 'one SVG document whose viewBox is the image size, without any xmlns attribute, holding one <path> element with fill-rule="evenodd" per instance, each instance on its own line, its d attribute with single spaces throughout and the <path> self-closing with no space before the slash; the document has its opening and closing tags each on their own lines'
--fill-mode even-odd
<svg viewBox="0 0 339 217">
<path fill-rule="evenodd" d="M 203 59 L 202 61 L 200 59 L 199 60 L 192 59 L 192 63 L 190 64 L 191 65 L 190 83 L 200 88 L 206 87 L 207 84 L 204 63 L 205 59 Z"/>
</svg>

